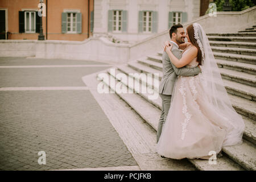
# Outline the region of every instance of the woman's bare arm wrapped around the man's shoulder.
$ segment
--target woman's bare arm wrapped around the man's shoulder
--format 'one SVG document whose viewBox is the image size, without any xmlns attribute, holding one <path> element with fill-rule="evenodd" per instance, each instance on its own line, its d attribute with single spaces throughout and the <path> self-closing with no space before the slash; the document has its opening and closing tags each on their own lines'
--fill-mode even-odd
<svg viewBox="0 0 256 182">
<path fill-rule="evenodd" d="M 171 46 L 166 46 L 166 53 L 168 54 L 170 61 L 172 64 L 175 65 L 177 68 L 184 67 L 185 65 L 189 64 L 196 56 L 197 56 L 197 48 L 195 46 L 192 46 L 191 49 L 188 50 L 188 52 L 181 57 L 181 59 L 177 59 L 177 57 L 174 56 L 174 54 L 171 51 Z"/>
</svg>

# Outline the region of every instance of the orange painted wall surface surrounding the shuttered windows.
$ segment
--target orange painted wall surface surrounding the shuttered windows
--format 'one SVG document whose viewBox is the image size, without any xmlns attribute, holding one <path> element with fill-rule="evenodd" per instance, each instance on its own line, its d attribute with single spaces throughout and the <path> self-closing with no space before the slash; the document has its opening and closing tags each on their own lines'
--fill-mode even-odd
<svg viewBox="0 0 256 182">
<path fill-rule="evenodd" d="M 93 0 L 90 1 L 90 11 L 93 11 Z M 44 0 L 46 3 L 46 0 Z M 19 11 L 22 9 L 38 9 L 39 0 L 1 0 L 0 8 L 8 9 L 9 39 L 38 39 L 38 33 L 19 33 Z M 88 0 L 48 0 L 47 39 L 48 40 L 79 40 L 88 38 Z M 79 9 L 82 13 L 81 34 L 61 34 L 61 13 L 64 9 Z M 46 17 L 42 17 L 43 32 L 46 38 Z M 90 19 L 89 19 L 90 20 Z M 89 30 L 90 31 L 90 30 Z"/>
</svg>

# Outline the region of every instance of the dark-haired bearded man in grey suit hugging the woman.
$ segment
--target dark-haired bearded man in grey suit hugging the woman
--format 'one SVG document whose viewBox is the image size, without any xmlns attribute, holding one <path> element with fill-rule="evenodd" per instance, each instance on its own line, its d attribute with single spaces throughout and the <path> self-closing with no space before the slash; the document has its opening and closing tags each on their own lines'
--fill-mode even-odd
<svg viewBox="0 0 256 182">
<path fill-rule="evenodd" d="M 170 31 L 171 42 L 174 46 L 172 47 L 172 53 L 177 57 L 181 58 L 181 50 L 179 45 L 185 43 L 185 31 L 181 24 L 176 24 L 171 27 Z M 162 98 L 162 112 L 158 123 L 158 132 L 156 134 L 156 142 L 158 142 L 162 133 L 162 127 L 166 121 L 168 111 L 171 104 L 172 90 L 177 76 L 195 76 L 201 72 L 199 67 L 196 68 L 176 68 L 171 63 L 167 53 L 163 52 L 163 78 L 159 85 L 159 96 Z M 181 101 L 180 101 L 181 102 Z"/>
</svg>

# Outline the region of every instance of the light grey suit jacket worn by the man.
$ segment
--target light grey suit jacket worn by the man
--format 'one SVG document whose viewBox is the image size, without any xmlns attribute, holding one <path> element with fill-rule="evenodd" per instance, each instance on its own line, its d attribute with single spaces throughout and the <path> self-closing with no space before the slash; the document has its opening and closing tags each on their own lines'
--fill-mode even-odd
<svg viewBox="0 0 256 182">
<path fill-rule="evenodd" d="M 177 59 L 181 58 L 182 51 L 173 44 L 172 53 Z M 168 54 L 163 52 L 163 78 L 159 85 L 159 93 L 164 95 L 171 95 L 174 89 L 174 84 L 178 75 L 181 76 L 195 76 L 201 72 L 199 67 L 196 68 L 176 68 L 174 64 L 171 63 Z"/>
</svg>

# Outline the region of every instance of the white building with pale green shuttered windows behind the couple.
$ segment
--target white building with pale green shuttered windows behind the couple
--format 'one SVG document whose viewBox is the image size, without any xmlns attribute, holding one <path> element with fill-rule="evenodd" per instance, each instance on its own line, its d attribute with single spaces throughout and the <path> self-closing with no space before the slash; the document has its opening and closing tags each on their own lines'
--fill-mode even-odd
<svg viewBox="0 0 256 182">
<path fill-rule="evenodd" d="M 95 0 L 93 34 L 133 43 L 199 15 L 200 0 Z"/>
</svg>

